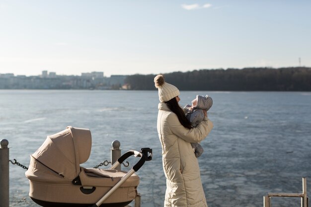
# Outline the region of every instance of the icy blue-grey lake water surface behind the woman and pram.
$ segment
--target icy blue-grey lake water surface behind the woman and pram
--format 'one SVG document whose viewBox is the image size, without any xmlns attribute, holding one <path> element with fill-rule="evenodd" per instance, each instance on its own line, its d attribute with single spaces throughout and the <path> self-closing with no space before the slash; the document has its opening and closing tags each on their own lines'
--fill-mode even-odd
<svg viewBox="0 0 311 207">
<path fill-rule="evenodd" d="M 310 92 L 181 91 L 181 106 L 197 94 L 214 100 L 208 112 L 214 129 L 201 142 L 199 157 L 209 207 L 262 207 L 268 192 L 302 192 L 302 177 L 311 186 Z M 137 172 L 138 191 L 142 207 L 162 207 L 157 104 L 157 91 L 0 90 L 0 139 L 9 140 L 10 159 L 27 166 L 46 136 L 67 126 L 92 133 L 91 155 L 83 167 L 109 160 L 116 139 L 122 152 L 151 147 L 153 160 Z M 10 206 L 38 207 L 28 197 L 24 173 L 10 164 Z M 300 199 L 272 198 L 272 205 L 299 207 Z"/>
</svg>

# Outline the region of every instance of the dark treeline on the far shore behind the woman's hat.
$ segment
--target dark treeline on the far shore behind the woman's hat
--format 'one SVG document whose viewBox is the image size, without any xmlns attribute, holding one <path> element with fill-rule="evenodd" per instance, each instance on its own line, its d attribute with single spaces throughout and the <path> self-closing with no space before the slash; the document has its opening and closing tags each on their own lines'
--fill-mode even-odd
<svg viewBox="0 0 311 207">
<path fill-rule="evenodd" d="M 311 68 L 201 69 L 164 73 L 179 90 L 207 91 L 311 91 Z M 132 90 L 155 90 L 156 74 L 129 75 Z"/>
</svg>

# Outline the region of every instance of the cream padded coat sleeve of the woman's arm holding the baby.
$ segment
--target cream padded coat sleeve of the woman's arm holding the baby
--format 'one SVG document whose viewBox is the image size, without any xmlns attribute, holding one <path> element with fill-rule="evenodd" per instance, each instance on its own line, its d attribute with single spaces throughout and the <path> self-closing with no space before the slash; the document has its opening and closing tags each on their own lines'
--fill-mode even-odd
<svg viewBox="0 0 311 207">
<path fill-rule="evenodd" d="M 203 140 L 213 129 L 213 122 L 206 117 L 197 127 L 190 130 L 180 124 L 176 114 L 170 114 L 167 121 L 171 132 L 188 142 Z"/>
</svg>

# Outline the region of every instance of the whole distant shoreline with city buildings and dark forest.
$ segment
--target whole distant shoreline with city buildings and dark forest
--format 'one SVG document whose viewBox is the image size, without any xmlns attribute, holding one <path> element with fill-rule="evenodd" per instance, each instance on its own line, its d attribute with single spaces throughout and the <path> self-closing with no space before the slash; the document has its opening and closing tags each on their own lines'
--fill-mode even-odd
<svg viewBox="0 0 311 207">
<path fill-rule="evenodd" d="M 156 90 L 155 74 L 84 76 L 14 76 L 0 74 L 0 89 Z M 163 73 L 184 91 L 311 91 L 311 68 L 200 69 Z"/>
</svg>

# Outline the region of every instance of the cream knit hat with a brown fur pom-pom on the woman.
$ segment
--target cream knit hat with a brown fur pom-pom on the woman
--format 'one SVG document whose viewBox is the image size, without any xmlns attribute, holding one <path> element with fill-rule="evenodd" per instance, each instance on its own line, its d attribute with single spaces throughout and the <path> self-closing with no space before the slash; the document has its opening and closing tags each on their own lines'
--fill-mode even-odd
<svg viewBox="0 0 311 207">
<path fill-rule="evenodd" d="M 176 86 L 165 82 L 163 75 L 156 75 L 155 86 L 158 89 L 160 102 L 166 102 L 170 99 L 179 96 L 179 90 Z"/>
</svg>

